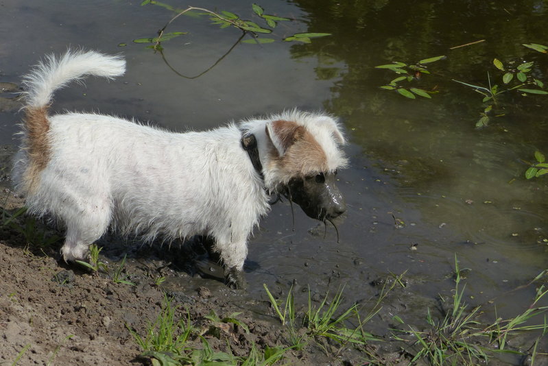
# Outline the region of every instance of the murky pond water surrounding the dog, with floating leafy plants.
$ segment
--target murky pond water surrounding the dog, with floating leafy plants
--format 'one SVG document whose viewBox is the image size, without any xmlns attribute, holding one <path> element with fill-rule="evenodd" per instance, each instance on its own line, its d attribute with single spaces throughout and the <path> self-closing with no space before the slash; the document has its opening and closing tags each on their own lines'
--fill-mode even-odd
<svg viewBox="0 0 548 366">
<path fill-rule="evenodd" d="M 311 45 L 274 42 L 236 45 L 233 29 L 180 18 L 169 31 L 189 32 L 165 43 L 165 58 L 133 43 L 152 37 L 172 14 L 126 1 L 3 1 L 0 82 L 19 83 L 44 53 L 80 45 L 123 53 L 128 73 L 116 82 L 89 80 L 58 93 L 55 110 L 99 110 L 184 131 L 297 106 L 327 110 L 342 119 L 351 167 L 339 173 L 348 213 L 335 230 L 318 225 L 287 203 L 276 204 L 250 241 L 246 299 L 309 285 L 313 293 L 345 286 L 348 302 L 378 292 L 371 283 L 407 271 L 402 311 L 423 317 L 429 300 L 449 294 L 455 254 L 468 268 L 467 301 L 495 299 L 499 314 L 515 315 L 534 288 L 505 295 L 546 268 L 546 178 L 523 173 L 536 149 L 546 147 L 548 99 L 507 93 L 491 125 L 475 129 L 486 104 L 452 82 L 487 84 L 501 77 L 492 59 L 535 61 L 548 82 L 548 59 L 522 43 L 548 42 L 543 1 L 496 5 L 443 1 L 269 1 L 283 23 L 276 38 L 297 32 L 331 32 Z M 175 4 L 176 5 L 176 4 Z M 252 18 L 246 1 L 200 2 Z M 484 40 L 466 47 L 450 47 Z M 125 46 L 120 45 L 125 44 Z M 374 69 L 392 60 L 416 62 L 446 55 L 418 86 L 433 99 L 406 99 L 379 86 L 396 77 Z M 176 72 L 174 72 L 177 71 Z M 499 82 L 501 84 L 501 82 Z M 11 85 L 11 84 L 10 84 Z M 14 93 L 0 97 L 0 144 L 13 144 Z M 3 100 L 3 99 L 2 99 Z M 9 101 L 9 102 L 8 102 Z M 548 154 L 548 149 L 544 150 Z M 197 280 L 200 282 L 200 280 Z M 209 282 L 214 286 L 213 282 Z M 176 286 L 177 284 L 172 284 Z M 417 300 L 419 299 L 419 300 Z M 423 300 L 420 300 L 423 299 Z"/>
</svg>

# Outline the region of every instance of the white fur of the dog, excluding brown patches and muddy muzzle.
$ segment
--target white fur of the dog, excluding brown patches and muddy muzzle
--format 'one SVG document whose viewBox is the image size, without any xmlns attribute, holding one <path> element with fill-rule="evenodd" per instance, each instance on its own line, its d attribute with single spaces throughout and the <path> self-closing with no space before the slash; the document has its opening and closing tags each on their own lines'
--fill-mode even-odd
<svg viewBox="0 0 548 366">
<path fill-rule="evenodd" d="M 25 108 L 47 106 L 53 92 L 71 80 L 114 77 L 124 68 L 118 56 L 96 52 L 49 56 L 25 78 Z M 65 260 L 85 258 L 88 245 L 112 225 L 150 240 L 212 236 L 226 267 L 241 269 L 248 236 L 269 209 L 265 188 L 273 192 L 281 184 L 276 169 L 269 169 L 273 145 L 265 132 L 278 119 L 305 126 L 329 157 L 330 169 L 346 164 L 338 147 L 344 137 L 322 114 L 286 112 L 183 134 L 100 114 L 57 114 L 48 117 L 47 165 L 34 190 L 23 192 L 27 206 L 67 225 Z M 242 132 L 257 138 L 264 181 L 241 147 Z M 23 191 L 29 160 L 23 146 L 13 172 Z"/>
</svg>

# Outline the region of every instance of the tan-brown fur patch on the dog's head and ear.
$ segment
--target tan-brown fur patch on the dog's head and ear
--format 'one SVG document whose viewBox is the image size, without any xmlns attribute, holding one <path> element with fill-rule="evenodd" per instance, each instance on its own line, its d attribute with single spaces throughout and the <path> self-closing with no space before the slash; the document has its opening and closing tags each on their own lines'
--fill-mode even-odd
<svg viewBox="0 0 548 366">
<path fill-rule="evenodd" d="M 283 156 L 273 151 L 273 160 L 283 173 L 282 180 L 328 170 L 324 149 L 304 126 L 293 121 L 274 121 L 272 127 L 285 149 Z"/>
</svg>

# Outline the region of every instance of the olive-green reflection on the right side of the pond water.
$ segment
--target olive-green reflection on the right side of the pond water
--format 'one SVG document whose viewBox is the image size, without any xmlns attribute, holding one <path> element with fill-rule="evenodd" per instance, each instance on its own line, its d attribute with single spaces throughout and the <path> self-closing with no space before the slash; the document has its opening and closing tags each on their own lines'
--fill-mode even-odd
<svg viewBox="0 0 548 366">
<path fill-rule="evenodd" d="M 504 93 L 500 117 L 475 129 L 488 104 L 470 84 L 502 85 L 493 65 L 534 62 L 548 82 L 548 56 L 523 43 L 548 43 L 548 1 L 295 1 L 309 13 L 309 32 L 333 34 L 313 45 L 294 45 L 294 58 L 315 57 L 319 79 L 333 80 L 324 108 L 342 117 L 354 143 L 398 182 L 423 219 L 448 223 L 470 241 L 489 243 L 508 256 L 543 267 L 548 237 L 546 180 L 527 182 L 523 159 L 548 153 L 548 99 Z M 474 45 L 465 45 L 477 40 Z M 381 90 L 394 73 L 374 69 L 392 61 L 446 55 L 416 87 L 438 90 L 410 100 Z M 490 250 L 493 248 L 491 247 Z M 478 249 L 481 252 L 481 249 Z M 488 256 L 488 249 L 485 249 Z"/>
</svg>

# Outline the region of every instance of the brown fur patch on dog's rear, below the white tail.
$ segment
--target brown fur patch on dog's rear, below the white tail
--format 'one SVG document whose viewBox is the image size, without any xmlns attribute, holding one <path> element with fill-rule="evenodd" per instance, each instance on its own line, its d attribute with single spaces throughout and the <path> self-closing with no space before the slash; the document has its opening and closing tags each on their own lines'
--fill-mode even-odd
<svg viewBox="0 0 548 366">
<path fill-rule="evenodd" d="M 51 147 L 47 136 L 49 121 L 46 107 L 27 108 L 23 125 L 25 126 L 25 145 L 29 158 L 29 165 L 23 179 L 25 190 L 28 193 L 36 189 L 40 172 L 49 162 Z"/>
</svg>

